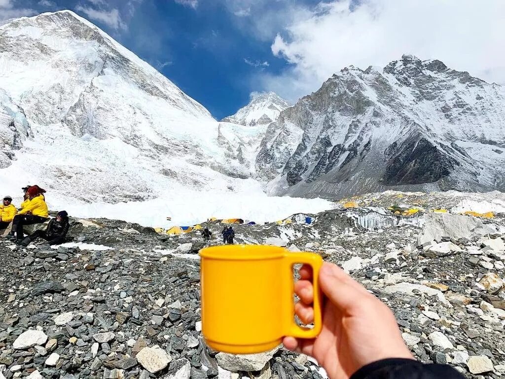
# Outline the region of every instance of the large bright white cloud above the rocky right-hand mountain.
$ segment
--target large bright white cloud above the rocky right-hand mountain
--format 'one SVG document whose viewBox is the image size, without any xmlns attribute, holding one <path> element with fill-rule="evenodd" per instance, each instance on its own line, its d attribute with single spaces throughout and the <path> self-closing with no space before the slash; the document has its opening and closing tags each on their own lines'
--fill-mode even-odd
<svg viewBox="0 0 505 379">
<path fill-rule="evenodd" d="M 345 66 L 384 66 L 405 53 L 505 84 L 504 1 L 362 0 L 349 5 L 349 0 L 320 3 L 278 34 L 272 52 L 291 66 L 281 75 L 262 74 L 263 89 L 294 100 Z"/>
</svg>

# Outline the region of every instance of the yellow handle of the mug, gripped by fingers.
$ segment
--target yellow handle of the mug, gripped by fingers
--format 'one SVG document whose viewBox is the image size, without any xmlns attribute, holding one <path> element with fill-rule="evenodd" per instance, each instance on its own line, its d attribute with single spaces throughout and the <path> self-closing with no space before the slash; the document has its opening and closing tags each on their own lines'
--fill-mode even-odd
<svg viewBox="0 0 505 379">
<path fill-rule="evenodd" d="M 321 319 L 322 305 L 321 305 L 321 293 L 319 290 L 319 269 L 323 264 L 323 258 L 321 258 L 320 255 L 315 253 L 301 252 L 301 253 L 289 253 L 284 257 L 284 259 L 286 263 L 289 264 L 290 272 L 291 267 L 294 264 L 305 263 L 310 265 L 312 267 L 313 272 L 312 286 L 314 288 L 314 301 L 313 301 L 314 327 L 310 329 L 301 327 L 296 324 L 296 322 L 294 321 L 294 304 L 292 300 L 290 300 L 291 319 L 286 336 L 295 338 L 316 338 L 319 335 L 319 333 L 321 333 L 321 326 L 322 326 L 322 319 Z M 292 298 L 292 296 L 294 295 L 294 284 L 292 279 L 290 288 L 291 288 L 290 296 Z"/>
</svg>

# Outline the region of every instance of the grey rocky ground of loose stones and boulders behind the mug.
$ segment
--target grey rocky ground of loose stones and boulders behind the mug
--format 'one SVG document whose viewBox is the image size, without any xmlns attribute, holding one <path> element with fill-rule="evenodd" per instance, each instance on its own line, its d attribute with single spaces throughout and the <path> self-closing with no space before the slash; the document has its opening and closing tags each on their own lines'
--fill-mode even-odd
<svg viewBox="0 0 505 379">
<path fill-rule="evenodd" d="M 390 202 L 339 207 L 310 225 L 234 225 L 236 242 L 323 255 L 394 310 L 418 359 L 502 377 L 505 215 L 403 217 L 388 214 Z M 223 225 L 203 225 L 221 243 Z M 0 241 L 0 379 L 325 376 L 312 358 L 281 348 L 233 356 L 205 346 L 198 231 L 72 219 L 69 234 L 57 249 Z"/>
</svg>

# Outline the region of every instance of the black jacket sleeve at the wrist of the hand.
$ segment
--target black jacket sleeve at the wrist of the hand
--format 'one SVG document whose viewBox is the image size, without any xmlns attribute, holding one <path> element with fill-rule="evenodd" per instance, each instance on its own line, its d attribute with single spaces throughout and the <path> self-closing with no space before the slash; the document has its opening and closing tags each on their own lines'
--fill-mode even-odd
<svg viewBox="0 0 505 379">
<path fill-rule="evenodd" d="M 424 364 L 413 359 L 391 358 L 372 362 L 350 379 L 465 379 L 446 364 Z"/>
</svg>

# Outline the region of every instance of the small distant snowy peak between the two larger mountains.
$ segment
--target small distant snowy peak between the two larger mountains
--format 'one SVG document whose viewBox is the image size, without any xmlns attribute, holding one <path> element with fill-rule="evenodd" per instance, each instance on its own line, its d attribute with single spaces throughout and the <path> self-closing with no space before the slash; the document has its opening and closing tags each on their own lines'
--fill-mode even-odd
<svg viewBox="0 0 505 379">
<path fill-rule="evenodd" d="M 287 107 L 289 104 L 275 92 L 259 92 L 251 96 L 249 104 L 221 121 L 245 126 L 268 125 Z"/>
</svg>

